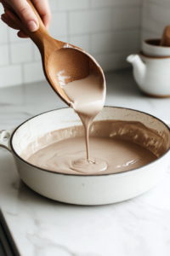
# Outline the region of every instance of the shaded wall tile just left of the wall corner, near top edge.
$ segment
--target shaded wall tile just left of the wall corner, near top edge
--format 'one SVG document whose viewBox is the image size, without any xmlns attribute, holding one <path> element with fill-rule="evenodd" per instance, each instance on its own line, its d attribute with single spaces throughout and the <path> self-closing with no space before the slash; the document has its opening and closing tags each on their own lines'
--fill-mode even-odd
<svg viewBox="0 0 170 256">
<path fill-rule="evenodd" d="M 113 29 L 139 28 L 139 7 L 112 9 L 111 26 Z"/>
</svg>

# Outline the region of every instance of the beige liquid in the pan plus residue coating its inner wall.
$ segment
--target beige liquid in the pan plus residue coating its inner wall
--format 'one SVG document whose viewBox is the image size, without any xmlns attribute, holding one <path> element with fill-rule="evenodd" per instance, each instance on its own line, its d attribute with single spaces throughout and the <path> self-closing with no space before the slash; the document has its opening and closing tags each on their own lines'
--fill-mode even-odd
<svg viewBox="0 0 170 256">
<path fill-rule="evenodd" d="M 156 160 L 167 150 L 161 136 L 139 122 L 94 121 L 89 134 L 91 161 L 86 158 L 83 126 L 44 135 L 21 157 L 49 171 L 89 175 L 132 170 Z M 47 144 L 49 139 L 51 144 Z"/>
</svg>

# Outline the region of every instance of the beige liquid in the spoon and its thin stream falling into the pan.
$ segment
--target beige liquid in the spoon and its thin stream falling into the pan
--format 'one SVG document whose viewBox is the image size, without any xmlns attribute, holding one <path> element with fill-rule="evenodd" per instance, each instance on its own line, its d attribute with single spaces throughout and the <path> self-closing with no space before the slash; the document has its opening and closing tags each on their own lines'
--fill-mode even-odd
<svg viewBox="0 0 170 256">
<path fill-rule="evenodd" d="M 102 110 L 105 104 L 105 86 L 103 82 L 100 81 L 99 76 L 89 75 L 85 79 L 75 80 L 71 83 L 65 84 L 63 86 L 65 94 L 73 102 L 73 108 L 82 120 L 82 125 L 85 130 L 85 142 L 87 150 L 87 160 L 90 163 L 96 165 L 96 161 L 92 160 L 89 156 L 89 146 L 88 146 L 88 131 L 96 115 Z M 78 161 L 78 166 L 82 165 L 87 168 L 87 160 Z M 101 166 L 99 169 L 103 169 L 104 163 L 101 161 Z M 94 166 L 95 168 L 95 166 Z M 106 168 L 106 163 L 105 163 Z"/>
</svg>

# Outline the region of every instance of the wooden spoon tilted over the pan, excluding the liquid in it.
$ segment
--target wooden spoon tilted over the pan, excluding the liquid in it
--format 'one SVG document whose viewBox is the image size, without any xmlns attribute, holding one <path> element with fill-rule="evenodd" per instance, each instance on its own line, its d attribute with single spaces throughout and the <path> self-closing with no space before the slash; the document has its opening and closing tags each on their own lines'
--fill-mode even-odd
<svg viewBox="0 0 170 256">
<path fill-rule="evenodd" d="M 62 85 L 74 80 L 84 79 L 92 73 L 99 75 L 100 79 L 104 81 L 104 74 L 99 64 L 84 50 L 51 38 L 37 13 L 37 9 L 31 3 L 31 0 L 27 0 L 27 2 L 31 5 L 31 9 L 33 9 L 39 21 L 39 28 L 36 32 L 30 32 L 18 15 L 16 15 L 14 9 L 8 3 L 2 1 L 3 8 L 5 10 L 9 9 L 17 16 L 16 23 L 20 27 L 20 30 L 25 32 L 37 45 L 42 55 L 43 73 L 48 83 L 57 92 L 59 97 L 71 106 L 71 100 L 65 95 Z M 59 26 L 59 24 L 56 24 L 56 26 Z"/>
</svg>

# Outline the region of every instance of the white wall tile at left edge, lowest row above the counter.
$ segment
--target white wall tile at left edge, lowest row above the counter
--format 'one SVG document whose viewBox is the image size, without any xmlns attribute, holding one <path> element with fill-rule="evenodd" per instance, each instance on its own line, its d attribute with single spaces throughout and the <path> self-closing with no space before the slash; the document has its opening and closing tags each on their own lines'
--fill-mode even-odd
<svg viewBox="0 0 170 256">
<path fill-rule="evenodd" d="M 0 67 L 0 88 L 22 84 L 21 66 Z"/>
</svg>

